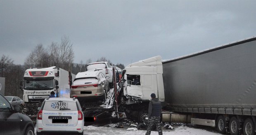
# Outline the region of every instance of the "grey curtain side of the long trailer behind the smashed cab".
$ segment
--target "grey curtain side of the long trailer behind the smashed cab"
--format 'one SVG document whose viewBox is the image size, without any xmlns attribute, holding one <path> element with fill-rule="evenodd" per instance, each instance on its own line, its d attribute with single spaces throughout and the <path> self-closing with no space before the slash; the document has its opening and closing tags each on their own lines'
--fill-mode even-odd
<svg viewBox="0 0 256 135">
<path fill-rule="evenodd" d="M 175 112 L 256 116 L 256 38 L 163 62 Z"/>
</svg>

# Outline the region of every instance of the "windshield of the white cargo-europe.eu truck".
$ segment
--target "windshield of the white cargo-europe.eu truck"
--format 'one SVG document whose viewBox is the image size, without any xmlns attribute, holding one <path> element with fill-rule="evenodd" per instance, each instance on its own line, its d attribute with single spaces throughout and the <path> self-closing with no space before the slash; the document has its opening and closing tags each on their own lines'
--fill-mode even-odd
<svg viewBox="0 0 256 135">
<path fill-rule="evenodd" d="M 52 90 L 53 80 L 24 80 L 25 90 Z"/>
</svg>

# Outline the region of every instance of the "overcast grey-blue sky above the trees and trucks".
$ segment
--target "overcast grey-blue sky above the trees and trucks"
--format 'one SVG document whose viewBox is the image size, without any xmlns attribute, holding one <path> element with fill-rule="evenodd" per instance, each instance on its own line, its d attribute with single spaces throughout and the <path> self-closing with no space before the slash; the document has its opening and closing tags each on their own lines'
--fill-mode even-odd
<svg viewBox="0 0 256 135">
<path fill-rule="evenodd" d="M 0 0 L 0 57 L 73 43 L 74 63 L 171 59 L 256 36 L 256 0 Z"/>
</svg>

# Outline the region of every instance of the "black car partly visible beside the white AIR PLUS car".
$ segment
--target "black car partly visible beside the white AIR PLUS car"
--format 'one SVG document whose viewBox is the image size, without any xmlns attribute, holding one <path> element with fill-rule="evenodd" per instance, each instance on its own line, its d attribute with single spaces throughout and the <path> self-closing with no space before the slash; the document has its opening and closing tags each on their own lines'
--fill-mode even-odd
<svg viewBox="0 0 256 135">
<path fill-rule="evenodd" d="M 21 107 L 12 106 L 0 94 L 0 135 L 34 135 L 32 120 L 19 112 Z"/>
</svg>

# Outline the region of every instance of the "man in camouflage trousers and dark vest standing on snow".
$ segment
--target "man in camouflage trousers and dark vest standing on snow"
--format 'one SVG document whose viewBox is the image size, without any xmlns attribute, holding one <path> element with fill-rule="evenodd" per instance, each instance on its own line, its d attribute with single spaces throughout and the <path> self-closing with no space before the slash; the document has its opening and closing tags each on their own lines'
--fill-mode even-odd
<svg viewBox="0 0 256 135">
<path fill-rule="evenodd" d="M 158 135 L 163 135 L 162 128 L 160 127 L 161 102 L 156 98 L 155 93 L 152 93 L 150 96 L 152 100 L 149 101 L 149 117 L 146 135 L 150 135 L 153 124 L 156 125 Z"/>
</svg>

